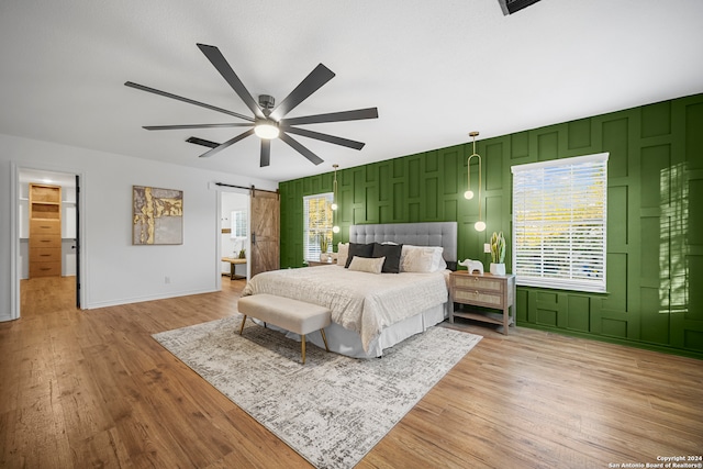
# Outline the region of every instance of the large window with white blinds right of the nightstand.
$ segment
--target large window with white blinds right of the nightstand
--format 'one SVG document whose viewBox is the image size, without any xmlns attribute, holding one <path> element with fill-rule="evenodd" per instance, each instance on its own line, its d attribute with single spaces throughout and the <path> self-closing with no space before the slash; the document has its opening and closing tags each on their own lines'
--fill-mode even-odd
<svg viewBox="0 0 703 469">
<path fill-rule="evenodd" d="M 511 168 L 518 284 L 605 291 L 607 156 Z"/>
</svg>

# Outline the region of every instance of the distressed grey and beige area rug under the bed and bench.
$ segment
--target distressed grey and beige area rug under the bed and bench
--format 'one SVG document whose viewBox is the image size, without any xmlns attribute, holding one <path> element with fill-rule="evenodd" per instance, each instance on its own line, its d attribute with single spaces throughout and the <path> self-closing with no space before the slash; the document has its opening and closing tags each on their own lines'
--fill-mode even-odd
<svg viewBox="0 0 703 469">
<path fill-rule="evenodd" d="M 481 339 L 432 327 L 356 359 L 242 315 L 155 334 L 166 349 L 317 468 L 352 468 Z M 250 325 L 249 325 L 250 324 Z"/>
</svg>

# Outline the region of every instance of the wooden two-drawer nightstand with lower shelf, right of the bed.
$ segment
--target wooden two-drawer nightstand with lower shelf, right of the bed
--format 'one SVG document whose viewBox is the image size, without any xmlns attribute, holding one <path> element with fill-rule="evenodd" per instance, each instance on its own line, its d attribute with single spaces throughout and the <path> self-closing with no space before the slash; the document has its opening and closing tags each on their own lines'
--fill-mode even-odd
<svg viewBox="0 0 703 469">
<path fill-rule="evenodd" d="M 451 272 L 450 279 L 449 297 L 453 301 L 449 312 L 450 323 L 454 324 L 455 317 L 466 317 L 502 324 L 503 334 L 507 335 L 509 326 L 515 325 L 515 276 L 513 273 L 494 276 L 460 270 Z M 483 306 L 500 312 L 470 311 L 461 305 Z"/>
</svg>

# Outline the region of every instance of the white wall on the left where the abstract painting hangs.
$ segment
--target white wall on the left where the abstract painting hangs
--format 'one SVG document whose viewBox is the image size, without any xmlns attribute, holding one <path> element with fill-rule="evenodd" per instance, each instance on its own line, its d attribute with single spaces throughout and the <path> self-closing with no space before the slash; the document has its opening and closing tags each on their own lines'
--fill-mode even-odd
<svg viewBox="0 0 703 469">
<path fill-rule="evenodd" d="M 272 181 L 0 134 L 0 321 L 12 319 L 15 308 L 11 302 L 11 250 L 18 243 L 19 252 L 19 233 L 12 233 L 9 223 L 16 210 L 12 205 L 16 197 L 11 192 L 15 183 L 13 164 L 81 175 L 86 309 L 216 290 L 219 193 L 210 183 L 255 185 L 269 190 L 277 187 Z M 134 185 L 183 191 L 182 245 L 132 245 Z"/>
</svg>

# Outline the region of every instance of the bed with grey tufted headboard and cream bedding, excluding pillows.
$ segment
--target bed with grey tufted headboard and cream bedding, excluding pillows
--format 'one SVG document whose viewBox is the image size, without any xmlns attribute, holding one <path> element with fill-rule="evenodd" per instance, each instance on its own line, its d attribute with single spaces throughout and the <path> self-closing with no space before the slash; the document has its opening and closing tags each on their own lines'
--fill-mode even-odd
<svg viewBox="0 0 703 469">
<path fill-rule="evenodd" d="M 439 246 L 447 265 L 454 267 L 456 233 L 456 222 L 354 225 L 349 242 Z M 333 323 L 325 333 L 331 350 L 357 358 L 380 357 L 383 349 L 447 317 L 448 272 L 368 273 L 337 265 L 284 269 L 255 276 L 242 294 L 271 293 L 330 308 Z M 324 347 L 320 334 L 309 334 L 306 339 Z"/>
</svg>

